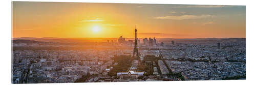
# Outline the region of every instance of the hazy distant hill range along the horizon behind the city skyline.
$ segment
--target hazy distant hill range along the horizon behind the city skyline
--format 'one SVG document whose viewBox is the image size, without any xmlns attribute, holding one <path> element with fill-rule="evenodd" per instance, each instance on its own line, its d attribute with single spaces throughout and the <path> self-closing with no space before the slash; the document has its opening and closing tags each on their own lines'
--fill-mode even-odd
<svg viewBox="0 0 256 85">
<path fill-rule="evenodd" d="M 54 38 L 54 37 L 46 37 L 46 38 L 33 38 L 33 37 L 22 37 L 22 38 L 12 38 L 12 40 L 30 40 L 30 41 L 22 41 L 22 42 L 51 42 L 51 43 L 95 43 L 95 42 L 118 42 L 119 38 Z M 139 38 L 142 43 L 143 38 Z M 156 38 L 157 42 L 169 42 L 169 41 L 184 41 L 184 40 L 241 40 L 245 41 L 245 38 Z M 125 38 L 125 40 L 134 40 L 134 38 Z"/>
</svg>

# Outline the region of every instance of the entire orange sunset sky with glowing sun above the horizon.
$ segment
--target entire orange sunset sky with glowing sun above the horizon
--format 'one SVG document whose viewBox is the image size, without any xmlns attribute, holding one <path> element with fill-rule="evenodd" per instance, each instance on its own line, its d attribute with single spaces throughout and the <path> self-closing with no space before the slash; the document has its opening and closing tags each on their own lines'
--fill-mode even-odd
<svg viewBox="0 0 256 85">
<path fill-rule="evenodd" d="M 13 2 L 12 37 L 245 38 L 245 6 Z"/>
</svg>

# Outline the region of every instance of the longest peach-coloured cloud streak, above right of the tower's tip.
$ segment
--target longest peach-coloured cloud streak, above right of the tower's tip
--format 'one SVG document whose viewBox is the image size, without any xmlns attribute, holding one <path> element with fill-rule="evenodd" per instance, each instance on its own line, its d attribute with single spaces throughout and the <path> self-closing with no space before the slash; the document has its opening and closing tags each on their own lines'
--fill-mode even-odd
<svg viewBox="0 0 256 85">
<path fill-rule="evenodd" d="M 200 19 L 212 17 L 212 15 L 182 15 L 182 16 L 161 16 L 154 17 L 154 19 L 172 19 L 172 20 L 184 20 L 184 19 Z"/>
</svg>

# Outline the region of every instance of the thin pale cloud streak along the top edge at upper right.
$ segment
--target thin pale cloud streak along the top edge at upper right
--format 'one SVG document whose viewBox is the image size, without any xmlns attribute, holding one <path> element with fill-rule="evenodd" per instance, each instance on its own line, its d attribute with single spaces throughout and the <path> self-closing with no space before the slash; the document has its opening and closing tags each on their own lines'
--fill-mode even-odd
<svg viewBox="0 0 256 85">
<path fill-rule="evenodd" d="M 180 5 L 173 8 L 223 8 L 223 7 L 233 7 L 225 5 Z"/>
</svg>

